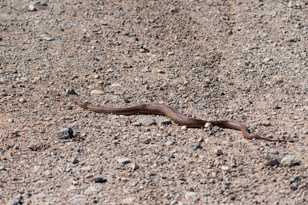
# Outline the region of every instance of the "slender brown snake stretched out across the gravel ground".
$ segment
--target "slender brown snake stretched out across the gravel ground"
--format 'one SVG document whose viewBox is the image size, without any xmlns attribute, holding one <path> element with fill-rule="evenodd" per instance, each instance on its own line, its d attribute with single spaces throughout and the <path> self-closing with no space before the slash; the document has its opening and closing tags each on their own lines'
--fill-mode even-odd
<svg viewBox="0 0 308 205">
<path fill-rule="evenodd" d="M 164 104 L 148 103 L 148 104 L 136 105 L 129 108 L 108 108 L 108 107 L 98 107 L 91 104 L 83 103 L 80 99 L 76 98 L 72 98 L 71 100 L 74 104 L 78 105 L 79 107 L 92 110 L 96 113 L 112 113 L 118 115 L 133 115 L 136 113 L 143 113 L 143 114 L 163 115 L 170 117 L 175 123 L 179 125 L 186 125 L 187 127 L 204 127 L 207 122 L 210 122 L 214 126 L 240 130 L 242 131 L 243 137 L 249 140 L 259 139 L 270 142 L 294 142 L 291 140 L 270 139 L 266 137 L 261 137 L 260 135 L 250 134 L 249 129 L 244 124 L 239 122 L 232 122 L 228 120 L 208 121 L 203 119 L 187 117 L 181 114 L 174 107 Z"/>
</svg>

